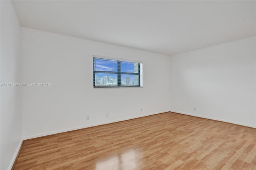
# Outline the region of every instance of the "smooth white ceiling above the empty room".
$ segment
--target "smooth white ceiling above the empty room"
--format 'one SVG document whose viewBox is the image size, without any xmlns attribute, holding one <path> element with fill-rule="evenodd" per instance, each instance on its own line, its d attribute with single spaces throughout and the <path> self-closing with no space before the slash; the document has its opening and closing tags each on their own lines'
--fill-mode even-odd
<svg viewBox="0 0 256 170">
<path fill-rule="evenodd" d="M 12 1 L 24 27 L 174 55 L 256 35 L 256 1 Z"/>
</svg>

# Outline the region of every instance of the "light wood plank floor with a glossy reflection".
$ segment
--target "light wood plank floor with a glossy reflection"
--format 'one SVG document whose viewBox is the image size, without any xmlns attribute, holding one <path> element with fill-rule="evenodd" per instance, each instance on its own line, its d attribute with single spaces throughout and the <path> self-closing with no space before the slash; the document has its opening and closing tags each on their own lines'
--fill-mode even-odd
<svg viewBox="0 0 256 170">
<path fill-rule="evenodd" d="M 256 129 L 162 113 L 25 140 L 13 169 L 256 170 Z"/>
</svg>

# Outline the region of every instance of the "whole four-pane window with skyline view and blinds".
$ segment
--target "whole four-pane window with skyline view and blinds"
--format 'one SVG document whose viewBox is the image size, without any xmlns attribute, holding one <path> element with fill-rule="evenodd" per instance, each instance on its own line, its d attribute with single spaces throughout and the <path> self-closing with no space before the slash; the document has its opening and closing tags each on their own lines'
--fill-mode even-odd
<svg viewBox="0 0 256 170">
<path fill-rule="evenodd" d="M 142 63 L 93 58 L 94 87 L 142 87 Z"/>
</svg>

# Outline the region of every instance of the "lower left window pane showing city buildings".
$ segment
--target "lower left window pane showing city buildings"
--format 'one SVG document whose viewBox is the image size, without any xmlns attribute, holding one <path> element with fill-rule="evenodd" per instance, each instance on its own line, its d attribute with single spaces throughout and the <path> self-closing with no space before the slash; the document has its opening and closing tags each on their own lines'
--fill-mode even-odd
<svg viewBox="0 0 256 170">
<path fill-rule="evenodd" d="M 117 74 L 95 73 L 95 86 L 117 86 Z"/>
</svg>

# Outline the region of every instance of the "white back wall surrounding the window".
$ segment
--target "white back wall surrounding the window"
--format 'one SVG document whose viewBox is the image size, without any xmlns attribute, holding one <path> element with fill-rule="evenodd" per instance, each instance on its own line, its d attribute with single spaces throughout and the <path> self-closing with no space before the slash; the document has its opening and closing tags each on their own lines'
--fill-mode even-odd
<svg viewBox="0 0 256 170">
<path fill-rule="evenodd" d="M 144 87 L 94 89 L 93 55 L 143 61 Z M 22 56 L 23 83 L 52 83 L 22 87 L 25 138 L 169 111 L 168 56 L 29 28 Z"/>
</svg>

